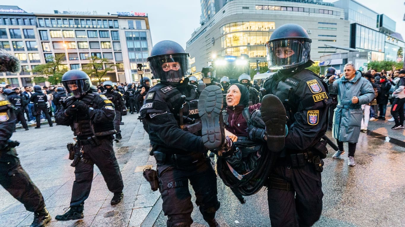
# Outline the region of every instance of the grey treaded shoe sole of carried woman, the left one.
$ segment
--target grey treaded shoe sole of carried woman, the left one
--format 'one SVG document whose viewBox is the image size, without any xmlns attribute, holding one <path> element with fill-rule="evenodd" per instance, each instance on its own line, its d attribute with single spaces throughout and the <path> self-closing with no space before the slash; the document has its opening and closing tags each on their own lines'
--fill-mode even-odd
<svg viewBox="0 0 405 227">
<path fill-rule="evenodd" d="M 219 86 L 207 86 L 198 99 L 198 115 L 202 123 L 202 138 L 205 147 L 214 150 L 222 145 L 225 139 L 222 106 L 224 95 Z"/>
</svg>

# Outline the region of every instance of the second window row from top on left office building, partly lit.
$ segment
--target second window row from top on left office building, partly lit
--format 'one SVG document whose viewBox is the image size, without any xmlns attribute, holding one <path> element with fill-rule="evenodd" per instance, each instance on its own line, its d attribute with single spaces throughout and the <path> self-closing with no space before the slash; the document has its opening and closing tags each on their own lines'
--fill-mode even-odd
<svg viewBox="0 0 405 227">
<path fill-rule="evenodd" d="M 49 30 L 51 38 L 111 38 L 112 40 L 119 40 L 118 31 L 106 30 Z M 39 31 L 41 40 L 49 40 L 48 31 Z M 146 36 L 146 35 L 145 35 Z"/>
</svg>

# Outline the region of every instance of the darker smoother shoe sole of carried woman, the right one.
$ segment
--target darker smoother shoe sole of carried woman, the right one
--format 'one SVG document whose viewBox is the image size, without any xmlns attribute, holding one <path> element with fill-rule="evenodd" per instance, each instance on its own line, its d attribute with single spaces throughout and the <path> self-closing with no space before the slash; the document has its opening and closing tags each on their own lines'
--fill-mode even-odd
<svg viewBox="0 0 405 227">
<path fill-rule="evenodd" d="M 260 107 L 266 124 L 267 148 L 279 152 L 284 148 L 286 136 L 286 109 L 275 95 L 265 95 Z"/>
</svg>

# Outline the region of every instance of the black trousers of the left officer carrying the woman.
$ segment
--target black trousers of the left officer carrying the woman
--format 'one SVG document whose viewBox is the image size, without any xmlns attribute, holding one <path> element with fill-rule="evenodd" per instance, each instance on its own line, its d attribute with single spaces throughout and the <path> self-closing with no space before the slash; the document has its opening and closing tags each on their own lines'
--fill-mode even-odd
<svg viewBox="0 0 405 227">
<path fill-rule="evenodd" d="M 168 227 L 187 227 L 193 223 L 193 204 L 188 181 L 194 189 L 196 204 L 204 220 L 214 219 L 215 212 L 220 207 L 217 198 L 217 177 L 211 160 L 206 154 L 197 155 L 200 158 L 194 163 L 192 160 L 196 160 L 195 157 L 185 155 L 176 155 L 177 159 L 167 158 L 166 162 L 157 161 L 162 209 L 164 215 L 168 216 Z"/>
</svg>

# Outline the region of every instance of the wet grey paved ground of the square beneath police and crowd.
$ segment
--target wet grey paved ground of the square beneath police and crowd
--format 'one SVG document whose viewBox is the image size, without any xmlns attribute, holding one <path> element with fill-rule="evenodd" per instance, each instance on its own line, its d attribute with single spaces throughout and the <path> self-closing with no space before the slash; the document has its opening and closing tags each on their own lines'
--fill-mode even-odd
<svg viewBox="0 0 405 227">
<path fill-rule="evenodd" d="M 387 110 L 389 113 L 389 110 Z M 159 192 L 152 192 L 142 176 L 145 165 L 153 165 L 149 156 L 149 138 L 137 114 L 123 117 L 123 139 L 114 142 L 116 157 L 124 180 L 124 199 L 110 205 L 112 193 L 97 167 L 90 197 L 85 202 L 84 219 L 56 221 L 46 227 L 164 227 L 166 216 L 161 212 Z M 386 119 L 388 119 L 387 117 Z M 369 131 L 360 133 L 356 149 L 356 166 L 347 166 L 347 153 L 333 159 L 333 150 L 324 160 L 322 184 L 324 191 L 323 211 L 315 227 L 403 227 L 405 223 L 405 130 L 391 130 L 393 122 L 373 121 Z M 331 133 L 327 135 L 331 138 Z M 68 160 L 66 143 L 72 142 L 68 126 L 49 128 L 45 123 L 40 129 L 17 129 L 11 139 L 21 143 L 17 153 L 23 168 L 39 187 L 45 204 L 54 217 L 69 206 L 74 168 Z M 397 143 L 393 143 L 396 141 Z M 345 144 L 347 149 L 347 144 Z M 137 168 L 138 167 L 138 168 Z M 221 208 L 217 220 L 222 227 L 270 226 L 267 191 L 246 197 L 240 204 L 220 178 L 217 179 L 218 198 Z M 29 226 L 33 214 L 0 187 L 0 226 Z M 193 201 L 195 198 L 193 197 Z M 197 206 L 192 213 L 193 227 L 207 226 Z"/>
</svg>

